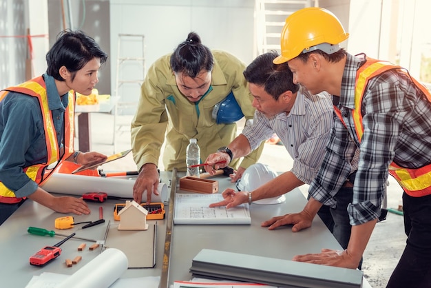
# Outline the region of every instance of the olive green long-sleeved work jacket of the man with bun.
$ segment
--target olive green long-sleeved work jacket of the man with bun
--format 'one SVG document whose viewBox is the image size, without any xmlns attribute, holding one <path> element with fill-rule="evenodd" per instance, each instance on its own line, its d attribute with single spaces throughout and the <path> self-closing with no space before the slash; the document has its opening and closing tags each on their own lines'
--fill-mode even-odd
<svg viewBox="0 0 431 288">
<path fill-rule="evenodd" d="M 213 107 L 233 92 L 246 120 L 253 119 L 253 96 L 242 72 L 244 63 L 235 56 L 213 50 L 214 68 L 209 92 L 198 102 L 191 103 L 178 90 L 169 60 L 162 56 L 149 68 L 141 87 L 138 110 L 132 121 L 132 149 L 138 170 L 145 163 L 158 165 L 160 148 L 165 141 L 163 165 L 167 171 L 174 167 L 186 170 L 186 147 L 190 138 L 196 138 L 200 159 L 227 146 L 236 136 L 236 123 L 217 124 L 211 116 Z M 257 162 L 264 143 L 242 159 L 244 169 Z M 230 166 L 237 167 L 238 159 Z"/>
</svg>

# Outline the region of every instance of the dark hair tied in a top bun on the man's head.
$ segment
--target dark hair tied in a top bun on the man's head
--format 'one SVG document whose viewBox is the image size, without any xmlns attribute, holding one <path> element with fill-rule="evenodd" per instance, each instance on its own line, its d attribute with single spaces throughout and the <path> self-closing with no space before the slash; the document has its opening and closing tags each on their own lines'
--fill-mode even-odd
<svg viewBox="0 0 431 288">
<path fill-rule="evenodd" d="M 211 72 L 214 59 L 211 50 L 200 42 L 196 32 L 190 32 L 186 41 L 180 43 L 171 55 L 171 69 L 174 73 L 184 73 L 191 78 L 204 69 Z"/>
</svg>

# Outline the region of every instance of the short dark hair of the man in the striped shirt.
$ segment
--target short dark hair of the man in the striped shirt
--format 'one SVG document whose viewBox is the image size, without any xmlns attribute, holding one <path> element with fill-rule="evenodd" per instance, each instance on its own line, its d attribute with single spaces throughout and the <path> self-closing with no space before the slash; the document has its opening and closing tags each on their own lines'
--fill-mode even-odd
<svg viewBox="0 0 431 288">
<path fill-rule="evenodd" d="M 276 101 L 286 91 L 296 93 L 299 90 L 299 85 L 293 83 L 293 74 L 287 63 L 273 63 L 277 56 L 275 51 L 259 55 L 243 72 L 246 81 L 263 86 Z"/>
</svg>

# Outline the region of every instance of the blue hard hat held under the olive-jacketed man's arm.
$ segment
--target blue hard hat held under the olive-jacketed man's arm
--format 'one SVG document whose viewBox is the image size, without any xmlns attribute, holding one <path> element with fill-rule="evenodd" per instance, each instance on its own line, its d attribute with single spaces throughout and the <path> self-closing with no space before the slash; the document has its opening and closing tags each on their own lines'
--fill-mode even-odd
<svg viewBox="0 0 431 288">
<path fill-rule="evenodd" d="M 212 116 L 217 124 L 230 124 L 242 119 L 244 114 L 231 92 L 225 99 L 215 104 Z"/>
</svg>

